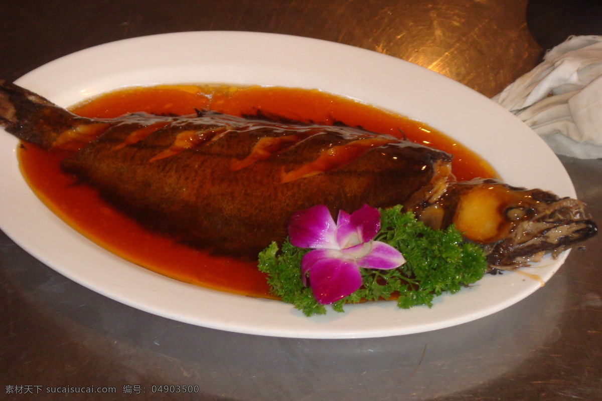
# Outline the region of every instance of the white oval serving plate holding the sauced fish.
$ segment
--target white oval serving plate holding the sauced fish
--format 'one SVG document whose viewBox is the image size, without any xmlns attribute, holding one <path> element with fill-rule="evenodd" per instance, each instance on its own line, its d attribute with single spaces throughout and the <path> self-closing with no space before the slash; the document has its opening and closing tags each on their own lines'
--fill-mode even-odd
<svg viewBox="0 0 602 401">
<path fill-rule="evenodd" d="M 250 32 L 183 32 L 102 44 L 52 61 L 17 84 L 69 106 L 128 85 L 218 82 L 318 88 L 423 121 L 468 145 L 506 182 L 575 197 L 545 143 L 514 115 L 467 87 L 394 57 L 338 43 Z M 566 253 L 520 273 L 487 275 L 436 299 L 432 308 L 394 302 L 348 305 L 305 317 L 290 305 L 181 283 L 126 262 L 76 233 L 31 192 L 19 173 L 17 140 L 0 135 L 0 227 L 55 271 L 150 313 L 209 328 L 302 338 L 409 334 L 479 319 L 541 287 Z"/>
</svg>

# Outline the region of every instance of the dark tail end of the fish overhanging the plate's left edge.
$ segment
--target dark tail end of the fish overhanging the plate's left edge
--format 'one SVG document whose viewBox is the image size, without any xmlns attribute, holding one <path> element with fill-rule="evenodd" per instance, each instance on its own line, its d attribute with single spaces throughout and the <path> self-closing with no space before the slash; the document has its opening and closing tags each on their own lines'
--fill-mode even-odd
<svg viewBox="0 0 602 401">
<path fill-rule="evenodd" d="M 19 139 L 51 148 L 98 121 L 78 117 L 19 85 L 0 80 L 0 126 Z"/>
</svg>

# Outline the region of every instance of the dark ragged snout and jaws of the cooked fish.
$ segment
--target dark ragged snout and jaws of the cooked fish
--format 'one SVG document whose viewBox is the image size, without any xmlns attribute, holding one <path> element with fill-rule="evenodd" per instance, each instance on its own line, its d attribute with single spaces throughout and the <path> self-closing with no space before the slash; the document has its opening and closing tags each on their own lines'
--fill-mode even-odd
<svg viewBox="0 0 602 401">
<path fill-rule="evenodd" d="M 514 270 L 541 261 L 546 253 L 556 259 L 560 253 L 594 236 L 597 225 L 585 212 L 582 201 L 562 198 L 545 201 L 538 207 L 507 210 L 509 219 L 517 219 L 503 240 L 484 246 L 486 258 L 494 269 Z M 516 208 L 514 208 L 516 209 Z M 518 215 L 518 217 L 517 217 Z"/>
</svg>

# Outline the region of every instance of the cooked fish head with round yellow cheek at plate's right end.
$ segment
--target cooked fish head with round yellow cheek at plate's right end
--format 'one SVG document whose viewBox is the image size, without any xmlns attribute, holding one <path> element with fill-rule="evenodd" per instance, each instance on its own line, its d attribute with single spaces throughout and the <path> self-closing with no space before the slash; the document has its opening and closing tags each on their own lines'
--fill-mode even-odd
<svg viewBox="0 0 602 401">
<path fill-rule="evenodd" d="M 420 218 L 436 228 L 454 224 L 498 269 L 526 266 L 546 253 L 557 257 L 597 232 L 582 201 L 494 179 L 453 183 Z"/>
</svg>

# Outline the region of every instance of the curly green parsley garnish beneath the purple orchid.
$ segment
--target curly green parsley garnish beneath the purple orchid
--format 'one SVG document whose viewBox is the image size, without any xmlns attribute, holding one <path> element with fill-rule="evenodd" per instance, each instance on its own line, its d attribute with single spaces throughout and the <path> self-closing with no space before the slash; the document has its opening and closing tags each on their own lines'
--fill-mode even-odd
<svg viewBox="0 0 602 401">
<path fill-rule="evenodd" d="M 406 263 L 391 270 L 361 269 L 362 287 L 332 304 L 335 311 L 343 312 L 344 304 L 392 298 L 400 308 L 431 307 L 436 296 L 458 292 L 488 269 L 482 248 L 465 242 L 455 227 L 433 230 L 413 213 L 402 212 L 401 206 L 379 211 L 380 231 L 374 239 L 399 249 Z M 308 251 L 291 245 L 288 238 L 282 249 L 272 243 L 259 253 L 258 268 L 267 274 L 274 295 L 312 316 L 326 313 L 326 307 L 303 285 L 300 264 Z"/>
</svg>

